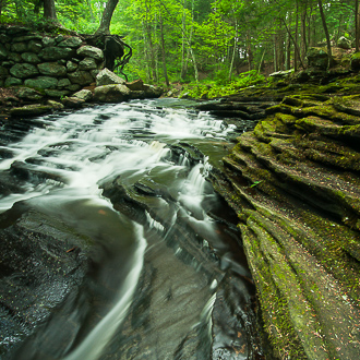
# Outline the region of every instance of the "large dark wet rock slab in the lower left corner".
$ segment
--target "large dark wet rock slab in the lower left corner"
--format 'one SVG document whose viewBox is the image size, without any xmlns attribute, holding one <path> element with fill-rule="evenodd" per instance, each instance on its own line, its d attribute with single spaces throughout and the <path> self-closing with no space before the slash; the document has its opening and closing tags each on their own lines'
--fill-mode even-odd
<svg viewBox="0 0 360 360">
<path fill-rule="evenodd" d="M 85 238 L 23 203 L 1 214 L 0 326 L 9 341 L 0 353 L 32 334 L 82 283 L 88 268 Z"/>
</svg>

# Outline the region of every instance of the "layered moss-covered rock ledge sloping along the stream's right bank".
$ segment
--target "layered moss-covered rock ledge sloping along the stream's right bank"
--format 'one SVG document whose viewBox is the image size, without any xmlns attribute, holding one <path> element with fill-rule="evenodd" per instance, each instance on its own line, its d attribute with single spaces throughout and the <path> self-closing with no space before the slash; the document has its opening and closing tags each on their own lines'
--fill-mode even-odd
<svg viewBox="0 0 360 360">
<path fill-rule="evenodd" d="M 279 359 L 360 358 L 360 96 L 288 96 L 224 159 Z"/>
</svg>

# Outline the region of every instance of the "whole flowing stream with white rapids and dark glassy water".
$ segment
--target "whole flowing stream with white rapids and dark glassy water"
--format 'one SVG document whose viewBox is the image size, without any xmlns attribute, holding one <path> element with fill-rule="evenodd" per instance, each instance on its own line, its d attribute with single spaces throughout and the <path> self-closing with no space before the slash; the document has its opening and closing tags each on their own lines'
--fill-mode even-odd
<svg viewBox="0 0 360 360">
<path fill-rule="evenodd" d="M 1 212 L 26 201 L 106 249 L 7 359 L 261 359 L 236 215 L 206 180 L 236 129 L 183 105 L 60 112 L 1 146 L 22 189 Z"/>
</svg>

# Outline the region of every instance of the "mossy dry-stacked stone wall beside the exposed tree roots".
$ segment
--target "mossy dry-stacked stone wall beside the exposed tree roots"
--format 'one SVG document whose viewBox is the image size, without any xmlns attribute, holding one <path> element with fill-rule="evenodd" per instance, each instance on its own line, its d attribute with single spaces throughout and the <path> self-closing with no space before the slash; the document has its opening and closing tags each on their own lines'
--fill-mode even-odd
<svg viewBox="0 0 360 360">
<path fill-rule="evenodd" d="M 0 27 L 0 86 L 24 85 L 62 97 L 89 85 L 104 69 L 104 53 L 80 36 Z"/>
</svg>

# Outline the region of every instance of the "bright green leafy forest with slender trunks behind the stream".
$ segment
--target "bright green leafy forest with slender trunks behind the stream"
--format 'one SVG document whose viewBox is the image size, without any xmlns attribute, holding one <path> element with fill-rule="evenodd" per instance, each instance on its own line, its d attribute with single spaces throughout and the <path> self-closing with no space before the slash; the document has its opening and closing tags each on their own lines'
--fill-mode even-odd
<svg viewBox="0 0 360 360">
<path fill-rule="evenodd" d="M 297 71 L 309 48 L 331 53 L 340 37 L 359 49 L 358 0 L 0 1 L 1 23 L 56 22 L 93 34 L 106 17 L 105 32 L 133 49 L 129 79 L 152 84 L 224 85 Z"/>
</svg>

